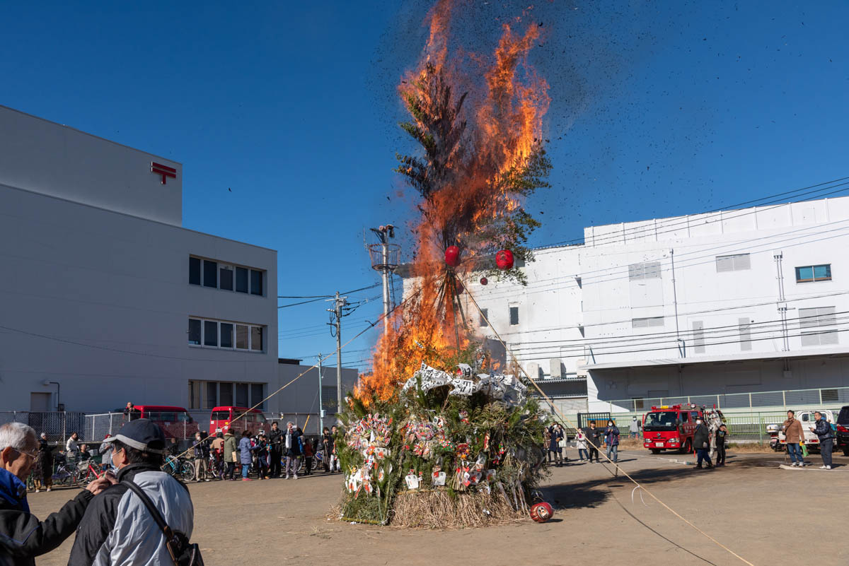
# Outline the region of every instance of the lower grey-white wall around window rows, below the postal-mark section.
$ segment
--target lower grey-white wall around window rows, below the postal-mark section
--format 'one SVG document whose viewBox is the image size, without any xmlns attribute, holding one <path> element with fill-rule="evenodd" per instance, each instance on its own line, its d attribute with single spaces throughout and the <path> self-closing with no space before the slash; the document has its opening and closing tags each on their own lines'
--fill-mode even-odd
<svg viewBox="0 0 849 566">
<path fill-rule="evenodd" d="M 189 380 L 277 383 L 277 252 L 8 186 L 0 219 L 0 410 L 54 406 L 44 381 L 91 413 L 188 408 Z M 265 295 L 189 285 L 189 254 L 266 269 Z M 266 351 L 190 347 L 189 316 L 264 325 Z"/>
</svg>

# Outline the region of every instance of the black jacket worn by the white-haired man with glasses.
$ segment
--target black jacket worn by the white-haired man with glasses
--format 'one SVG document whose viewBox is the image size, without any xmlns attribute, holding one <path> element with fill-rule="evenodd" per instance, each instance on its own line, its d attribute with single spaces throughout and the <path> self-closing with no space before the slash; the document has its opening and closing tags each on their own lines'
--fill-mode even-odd
<svg viewBox="0 0 849 566">
<path fill-rule="evenodd" d="M 0 564 L 7 555 L 15 566 L 35 566 L 35 557 L 59 547 L 74 533 L 93 497 L 91 491 L 80 491 L 59 512 L 39 521 L 29 511 L 24 483 L 0 469 Z"/>
</svg>

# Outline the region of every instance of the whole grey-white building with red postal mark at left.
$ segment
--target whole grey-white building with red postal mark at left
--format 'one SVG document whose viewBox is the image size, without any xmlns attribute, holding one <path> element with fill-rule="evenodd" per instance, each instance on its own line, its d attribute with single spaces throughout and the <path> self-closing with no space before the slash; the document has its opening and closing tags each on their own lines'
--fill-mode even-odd
<svg viewBox="0 0 849 566">
<path fill-rule="evenodd" d="M 0 107 L 0 410 L 277 389 L 277 252 L 183 228 L 182 181 L 171 159 Z"/>
</svg>

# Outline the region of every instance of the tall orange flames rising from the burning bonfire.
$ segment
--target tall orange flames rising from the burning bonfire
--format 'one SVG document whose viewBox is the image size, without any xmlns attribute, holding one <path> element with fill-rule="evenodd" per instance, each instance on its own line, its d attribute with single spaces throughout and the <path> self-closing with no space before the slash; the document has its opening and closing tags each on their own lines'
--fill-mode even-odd
<svg viewBox="0 0 849 566">
<path fill-rule="evenodd" d="M 531 48 L 540 41 L 537 25 L 531 23 L 522 35 L 503 25 L 491 58 L 474 54 L 449 58 L 457 3 L 438 0 L 430 10 L 426 19 L 430 35 L 418 69 L 404 77 L 398 90 L 405 101 L 418 100 L 422 108 L 430 108 L 428 103 L 446 95 L 438 88 L 438 80 L 444 77 L 447 85 L 443 86 L 452 89 L 452 96 L 468 91 L 475 108 L 469 109 L 469 103 L 464 107 L 465 150 L 451 153 L 443 164 L 451 182 L 419 204 L 417 250 L 411 265 L 414 283 L 408 286 L 403 308 L 393 315 L 391 329 L 374 347 L 371 373 L 360 378 L 355 393 L 367 403 L 373 395 L 384 400 L 396 395 L 422 362 L 450 369 L 468 355 L 464 350 L 473 336 L 464 320 L 468 313 L 458 312 L 461 302 L 455 300 L 458 291 L 452 276 L 469 280 L 472 262 L 446 270 L 445 235 L 458 232 L 454 236 L 464 242 L 464 258 L 480 254 L 475 236 L 480 237 L 493 219 L 506 218 L 521 205 L 520 197 L 499 181 L 524 167 L 542 143 L 543 115 L 550 103 L 548 83 L 527 61 Z M 516 21 L 520 23 L 521 17 Z M 481 66 L 478 75 L 469 74 L 464 57 Z M 458 70 L 461 67 L 464 70 Z M 435 80 L 435 75 L 440 79 Z M 425 83 L 430 88 L 421 88 Z M 419 116 L 413 119 L 422 125 Z"/>
</svg>

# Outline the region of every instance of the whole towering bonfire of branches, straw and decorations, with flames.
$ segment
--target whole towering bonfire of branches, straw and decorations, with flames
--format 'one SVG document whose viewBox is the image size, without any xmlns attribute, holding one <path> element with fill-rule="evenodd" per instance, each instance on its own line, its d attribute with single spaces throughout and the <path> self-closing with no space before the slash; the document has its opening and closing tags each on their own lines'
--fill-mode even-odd
<svg viewBox="0 0 849 566">
<path fill-rule="evenodd" d="M 398 89 L 411 117 L 401 126 L 421 147 L 396 169 L 420 195 L 413 284 L 343 416 L 346 520 L 436 527 L 526 516 L 542 474 L 537 402 L 493 361 L 468 324 L 477 312 L 460 300 L 473 277 L 524 283 L 517 266 L 538 224 L 522 205 L 548 186 L 548 84 L 528 62 L 540 28 L 516 17 L 491 56 L 469 53 L 454 47 L 457 9 L 440 0 L 430 10 L 424 55 Z M 502 249 L 516 262 L 498 270 Z"/>
</svg>

